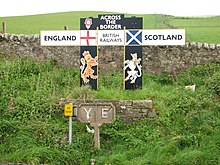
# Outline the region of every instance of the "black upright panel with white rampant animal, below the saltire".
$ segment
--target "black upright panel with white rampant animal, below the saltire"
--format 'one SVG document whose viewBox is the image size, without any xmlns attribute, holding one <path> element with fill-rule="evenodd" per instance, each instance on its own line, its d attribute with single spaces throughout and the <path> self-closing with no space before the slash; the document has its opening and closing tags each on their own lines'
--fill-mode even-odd
<svg viewBox="0 0 220 165">
<path fill-rule="evenodd" d="M 142 89 L 142 47 L 126 46 L 124 88 Z"/>
</svg>

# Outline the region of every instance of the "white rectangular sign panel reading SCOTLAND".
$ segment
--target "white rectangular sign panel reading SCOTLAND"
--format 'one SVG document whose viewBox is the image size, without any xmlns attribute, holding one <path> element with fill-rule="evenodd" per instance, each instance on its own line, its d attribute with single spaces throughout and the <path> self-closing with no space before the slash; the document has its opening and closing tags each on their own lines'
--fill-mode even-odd
<svg viewBox="0 0 220 165">
<path fill-rule="evenodd" d="M 143 30 L 142 45 L 185 45 L 185 29 Z"/>
</svg>

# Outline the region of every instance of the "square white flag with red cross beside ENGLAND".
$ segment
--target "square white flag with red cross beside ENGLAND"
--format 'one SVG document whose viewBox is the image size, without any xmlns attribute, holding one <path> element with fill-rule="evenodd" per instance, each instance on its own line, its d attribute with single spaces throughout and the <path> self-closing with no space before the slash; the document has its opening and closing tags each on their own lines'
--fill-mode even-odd
<svg viewBox="0 0 220 165">
<path fill-rule="evenodd" d="M 81 45 L 97 46 L 96 35 L 96 30 L 81 30 Z"/>
</svg>

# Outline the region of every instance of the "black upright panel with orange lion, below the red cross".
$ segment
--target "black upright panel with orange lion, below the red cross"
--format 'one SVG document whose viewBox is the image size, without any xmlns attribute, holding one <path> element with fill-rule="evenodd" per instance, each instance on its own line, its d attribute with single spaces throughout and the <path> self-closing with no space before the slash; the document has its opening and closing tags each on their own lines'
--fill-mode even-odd
<svg viewBox="0 0 220 165">
<path fill-rule="evenodd" d="M 96 46 L 80 47 L 80 86 L 90 85 L 97 89 L 98 55 Z"/>
</svg>

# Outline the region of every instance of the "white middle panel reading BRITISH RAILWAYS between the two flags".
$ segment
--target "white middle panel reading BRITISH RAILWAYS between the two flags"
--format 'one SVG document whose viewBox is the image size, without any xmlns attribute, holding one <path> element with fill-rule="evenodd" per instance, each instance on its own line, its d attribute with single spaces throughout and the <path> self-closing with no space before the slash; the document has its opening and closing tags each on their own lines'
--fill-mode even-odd
<svg viewBox="0 0 220 165">
<path fill-rule="evenodd" d="M 117 45 L 123 46 L 125 42 L 124 30 L 99 30 L 98 45 Z"/>
</svg>

